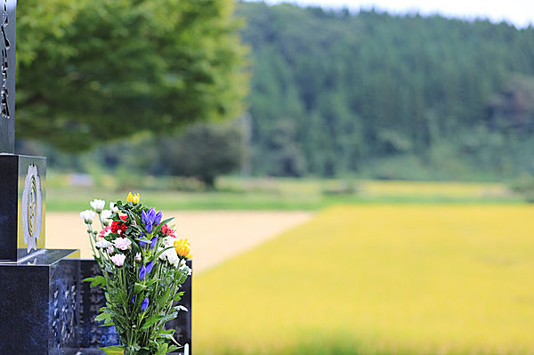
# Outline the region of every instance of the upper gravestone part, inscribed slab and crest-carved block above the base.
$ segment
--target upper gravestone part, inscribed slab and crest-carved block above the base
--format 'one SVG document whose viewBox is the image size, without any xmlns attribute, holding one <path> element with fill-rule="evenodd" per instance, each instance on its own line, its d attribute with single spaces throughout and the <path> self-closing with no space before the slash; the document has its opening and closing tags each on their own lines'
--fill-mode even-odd
<svg viewBox="0 0 534 355">
<path fill-rule="evenodd" d="M 0 0 L 0 262 L 44 247 L 46 159 L 14 154 L 16 0 Z"/>
</svg>

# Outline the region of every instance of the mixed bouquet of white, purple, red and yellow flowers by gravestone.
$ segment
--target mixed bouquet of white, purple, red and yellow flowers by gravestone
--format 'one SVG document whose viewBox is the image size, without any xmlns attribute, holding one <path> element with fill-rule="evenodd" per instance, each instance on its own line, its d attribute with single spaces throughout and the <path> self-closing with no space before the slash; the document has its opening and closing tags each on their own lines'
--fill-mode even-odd
<svg viewBox="0 0 534 355">
<path fill-rule="evenodd" d="M 101 348 L 107 354 L 164 355 L 179 349 L 174 329 L 165 323 L 176 318 L 183 306 L 174 306 L 183 292 L 180 286 L 190 276 L 185 259 L 190 244 L 179 239 L 162 221 L 161 211 L 143 206 L 139 194 L 128 194 L 125 203 L 117 201 L 105 210 L 105 201 L 91 202 L 93 210 L 80 213 L 87 226 L 93 257 L 102 276 L 86 278 L 100 286 L 106 305 L 95 318 L 103 326 L 114 325 L 120 345 Z M 98 214 L 101 231 L 93 230 Z"/>
</svg>

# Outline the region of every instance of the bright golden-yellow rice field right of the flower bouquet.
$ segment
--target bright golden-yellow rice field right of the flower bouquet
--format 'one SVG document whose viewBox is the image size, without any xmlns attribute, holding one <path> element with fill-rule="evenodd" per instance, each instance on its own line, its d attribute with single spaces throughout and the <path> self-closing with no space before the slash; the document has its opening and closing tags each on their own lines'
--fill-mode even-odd
<svg viewBox="0 0 534 355">
<path fill-rule="evenodd" d="M 193 351 L 534 354 L 533 217 L 328 208 L 194 278 Z"/>
</svg>

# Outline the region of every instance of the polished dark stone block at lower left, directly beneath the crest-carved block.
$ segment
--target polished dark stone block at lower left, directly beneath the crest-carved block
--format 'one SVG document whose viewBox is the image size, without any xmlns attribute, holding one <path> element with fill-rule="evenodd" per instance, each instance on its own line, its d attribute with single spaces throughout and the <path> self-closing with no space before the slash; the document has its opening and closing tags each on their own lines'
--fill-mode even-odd
<svg viewBox="0 0 534 355">
<path fill-rule="evenodd" d="M 0 263 L 0 354 L 65 354 L 76 346 L 77 250 L 42 249 L 20 263 Z"/>
</svg>

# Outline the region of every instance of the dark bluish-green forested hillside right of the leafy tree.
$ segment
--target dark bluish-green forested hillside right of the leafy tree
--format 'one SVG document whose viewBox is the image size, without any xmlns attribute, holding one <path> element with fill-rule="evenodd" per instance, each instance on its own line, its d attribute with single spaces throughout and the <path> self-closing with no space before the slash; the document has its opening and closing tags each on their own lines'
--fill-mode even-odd
<svg viewBox="0 0 534 355">
<path fill-rule="evenodd" d="M 534 171 L 534 30 L 240 3 L 253 172 L 462 178 Z"/>
</svg>

